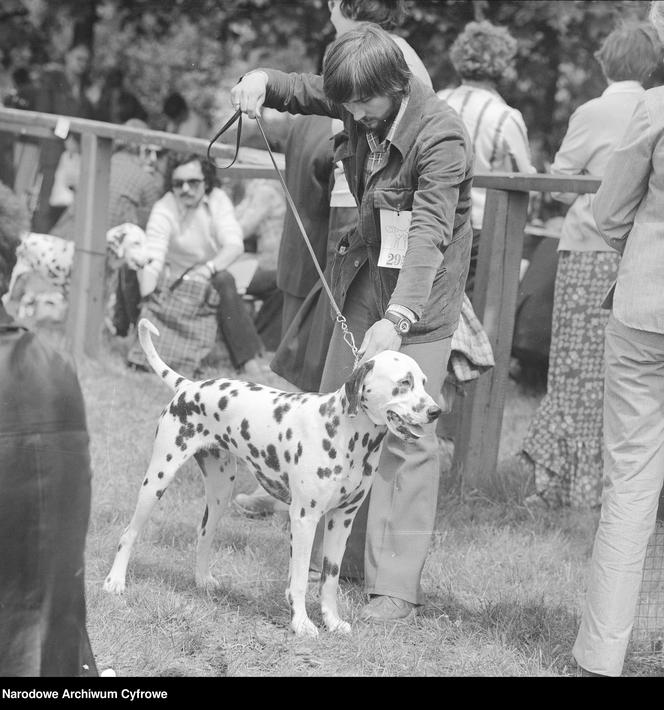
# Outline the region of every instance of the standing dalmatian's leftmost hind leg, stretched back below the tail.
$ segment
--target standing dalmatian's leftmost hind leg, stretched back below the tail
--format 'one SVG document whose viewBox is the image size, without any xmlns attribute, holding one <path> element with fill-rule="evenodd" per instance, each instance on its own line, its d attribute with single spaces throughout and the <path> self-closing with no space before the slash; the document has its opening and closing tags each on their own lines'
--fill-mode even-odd
<svg viewBox="0 0 664 710">
<path fill-rule="evenodd" d="M 191 457 L 192 453 L 193 449 L 188 448 L 186 451 L 164 454 L 159 446 L 159 440 L 155 441 L 152 459 L 138 493 L 138 502 L 136 503 L 134 515 L 120 537 L 113 566 L 104 581 L 105 591 L 114 594 L 122 594 L 124 592 L 127 564 L 134 542 L 150 517 L 155 503 L 162 497 L 164 491 L 175 477 L 177 470 Z"/>
</svg>

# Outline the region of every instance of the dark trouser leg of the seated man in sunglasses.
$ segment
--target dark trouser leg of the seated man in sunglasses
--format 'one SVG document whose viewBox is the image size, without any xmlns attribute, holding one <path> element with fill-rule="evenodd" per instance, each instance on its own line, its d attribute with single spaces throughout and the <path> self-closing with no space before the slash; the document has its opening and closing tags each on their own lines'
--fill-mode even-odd
<svg viewBox="0 0 664 710">
<path fill-rule="evenodd" d="M 226 344 L 233 367 L 239 368 L 256 357 L 263 344 L 249 310 L 237 292 L 235 279 L 228 271 L 218 271 L 212 285 L 221 298 L 217 310 L 217 323 Z"/>
</svg>

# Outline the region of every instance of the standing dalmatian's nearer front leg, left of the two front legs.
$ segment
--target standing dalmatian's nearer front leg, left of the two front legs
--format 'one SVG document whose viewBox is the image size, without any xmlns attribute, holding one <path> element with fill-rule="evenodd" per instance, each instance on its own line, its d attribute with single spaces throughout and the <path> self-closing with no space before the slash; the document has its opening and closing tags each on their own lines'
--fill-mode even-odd
<svg viewBox="0 0 664 710">
<path fill-rule="evenodd" d="M 307 616 L 305 599 L 311 548 L 320 516 L 311 515 L 295 501 L 291 503 L 289 513 L 291 549 L 286 599 L 291 610 L 291 628 L 296 636 L 318 636 L 318 629 Z"/>
</svg>

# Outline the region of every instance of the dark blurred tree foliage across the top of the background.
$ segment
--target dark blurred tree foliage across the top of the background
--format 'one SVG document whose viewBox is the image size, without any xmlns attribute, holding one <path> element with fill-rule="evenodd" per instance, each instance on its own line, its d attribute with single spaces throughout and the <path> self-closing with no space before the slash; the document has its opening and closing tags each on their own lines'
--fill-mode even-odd
<svg viewBox="0 0 664 710">
<path fill-rule="evenodd" d="M 154 119 L 166 94 L 178 90 L 217 123 L 229 112 L 225 94 L 244 72 L 261 65 L 316 71 L 334 37 L 325 0 L 4 1 L 18 10 L 4 24 L 30 25 L 53 59 L 74 36 L 89 41 L 95 70 L 124 69 Z M 602 39 L 619 21 L 644 19 L 648 6 L 646 0 L 408 0 L 397 32 L 443 88 L 455 82 L 447 50 L 466 22 L 486 18 L 507 26 L 519 52 L 516 77 L 506 78 L 502 91 L 550 155 L 571 112 L 605 86 L 593 57 Z"/>
</svg>

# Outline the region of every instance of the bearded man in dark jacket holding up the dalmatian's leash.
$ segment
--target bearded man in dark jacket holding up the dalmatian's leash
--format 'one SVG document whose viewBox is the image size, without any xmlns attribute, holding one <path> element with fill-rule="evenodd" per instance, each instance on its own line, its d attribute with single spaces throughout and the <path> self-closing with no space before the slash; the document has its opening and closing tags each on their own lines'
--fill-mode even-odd
<svg viewBox="0 0 664 710">
<path fill-rule="evenodd" d="M 265 105 L 343 120 L 348 140 L 335 160 L 343 162 L 359 220 L 337 247 L 335 301 L 361 342 L 361 360 L 401 350 L 419 363 L 427 390 L 437 396 L 472 241 L 472 151 L 458 115 L 412 76 L 394 40 L 372 24 L 335 40 L 323 76 L 259 69 L 232 89 L 231 101 L 250 118 Z M 352 248 L 358 242 L 359 251 Z M 321 391 L 339 387 L 354 366 L 337 323 Z M 415 442 L 386 436 L 341 570 L 342 576 L 364 576 L 371 599 L 362 619 L 405 619 L 423 603 L 420 579 L 439 475 L 434 425 Z M 320 564 L 316 553 L 312 567 Z"/>
</svg>

